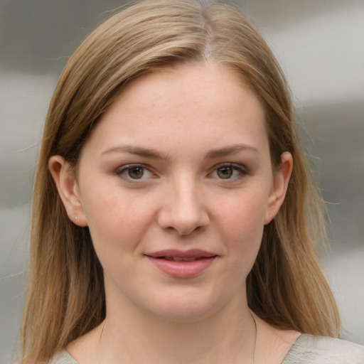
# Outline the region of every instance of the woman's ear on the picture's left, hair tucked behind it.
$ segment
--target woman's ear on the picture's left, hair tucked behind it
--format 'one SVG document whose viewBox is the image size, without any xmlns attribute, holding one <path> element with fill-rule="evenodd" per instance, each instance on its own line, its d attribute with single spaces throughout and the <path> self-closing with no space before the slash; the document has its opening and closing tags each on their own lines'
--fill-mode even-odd
<svg viewBox="0 0 364 364">
<path fill-rule="evenodd" d="M 48 161 L 48 168 L 55 181 L 68 218 L 78 226 L 87 226 L 77 180 L 69 162 L 65 161 L 62 156 L 51 156 Z"/>
</svg>

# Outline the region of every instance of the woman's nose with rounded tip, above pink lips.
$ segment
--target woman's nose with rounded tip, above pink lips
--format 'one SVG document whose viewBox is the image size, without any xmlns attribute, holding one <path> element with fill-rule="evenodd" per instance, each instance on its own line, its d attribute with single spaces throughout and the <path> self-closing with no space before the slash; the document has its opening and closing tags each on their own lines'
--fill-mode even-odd
<svg viewBox="0 0 364 364">
<path fill-rule="evenodd" d="M 208 210 L 194 181 L 173 183 L 163 196 L 159 226 L 178 235 L 190 235 L 210 223 Z"/>
</svg>

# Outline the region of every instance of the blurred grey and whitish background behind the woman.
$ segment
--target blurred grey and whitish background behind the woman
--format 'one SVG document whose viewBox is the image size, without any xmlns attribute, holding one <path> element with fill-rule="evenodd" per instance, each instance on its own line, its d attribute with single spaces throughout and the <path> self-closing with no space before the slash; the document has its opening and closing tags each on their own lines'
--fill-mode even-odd
<svg viewBox="0 0 364 364">
<path fill-rule="evenodd" d="M 364 344 L 364 1 L 241 0 L 287 73 L 299 130 L 328 201 L 323 255 L 343 338 Z M 23 304 L 30 201 L 50 97 L 116 0 L 0 0 L 0 362 Z M 52 277 L 50 277 L 50 280 Z"/>
</svg>

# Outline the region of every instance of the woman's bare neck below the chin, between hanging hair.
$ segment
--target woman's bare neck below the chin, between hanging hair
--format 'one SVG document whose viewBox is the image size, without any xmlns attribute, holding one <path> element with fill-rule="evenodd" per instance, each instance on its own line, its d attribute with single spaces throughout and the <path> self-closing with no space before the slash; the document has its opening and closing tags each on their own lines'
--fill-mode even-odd
<svg viewBox="0 0 364 364">
<path fill-rule="evenodd" d="M 108 307 L 98 333 L 103 363 L 254 363 L 255 321 L 240 300 L 187 322 Z"/>
</svg>

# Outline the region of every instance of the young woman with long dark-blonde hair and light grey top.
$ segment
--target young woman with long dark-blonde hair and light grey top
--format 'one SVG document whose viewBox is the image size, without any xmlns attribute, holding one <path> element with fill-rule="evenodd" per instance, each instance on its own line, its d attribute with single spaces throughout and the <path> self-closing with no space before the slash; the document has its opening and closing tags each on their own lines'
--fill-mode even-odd
<svg viewBox="0 0 364 364">
<path fill-rule="evenodd" d="M 50 105 L 21 363 L 363 363 L 335 339 L 320 202 L 284 75 L 237 9 L 124 9 Z"/>
</svg>

